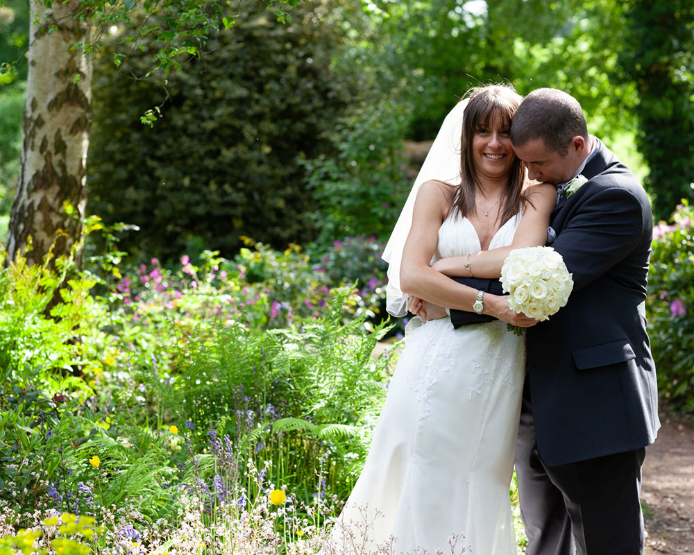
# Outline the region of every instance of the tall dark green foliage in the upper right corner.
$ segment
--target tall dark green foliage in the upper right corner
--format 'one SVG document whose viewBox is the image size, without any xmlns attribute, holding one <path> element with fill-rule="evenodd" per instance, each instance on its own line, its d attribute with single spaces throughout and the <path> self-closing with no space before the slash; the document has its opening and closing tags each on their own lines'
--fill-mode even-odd
<svg viewBox="0 0 694 555">
<path fill-rule="evenodd" d="M 680 198 L 694 199 L 694 4 L 631 0 L 623 19 L 622 78 L 634 83 L 636 144 L 650 169 L 653 211 L 666 218 Z"/>
</svg>

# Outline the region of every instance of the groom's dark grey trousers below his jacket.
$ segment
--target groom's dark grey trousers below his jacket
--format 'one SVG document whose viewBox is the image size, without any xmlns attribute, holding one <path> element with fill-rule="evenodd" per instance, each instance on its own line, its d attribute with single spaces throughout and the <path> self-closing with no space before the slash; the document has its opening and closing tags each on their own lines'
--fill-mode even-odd
<svg viewBox="0 0 694 555">
<path fill-rule="evenodd" d="M 537 449 L 529 383 L 526 378 L 516 449 L 527 555 L 643 554 L 638 494 L 645 449 L 545 465 Z"/>
</svg>

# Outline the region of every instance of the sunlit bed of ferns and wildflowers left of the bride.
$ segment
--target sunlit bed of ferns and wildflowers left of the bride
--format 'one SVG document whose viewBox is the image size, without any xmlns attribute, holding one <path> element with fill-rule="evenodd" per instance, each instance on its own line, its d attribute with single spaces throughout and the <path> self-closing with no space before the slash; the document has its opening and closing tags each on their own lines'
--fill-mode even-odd
<svg viewBox="0 0 694 555">
<path fill-rule="evenodd" d="M 176 523 L 189 495 L 212 518 L 269 481 L 305 500 L 346 495 L 385 391 L 387 357 L 370 357 L 385 327 L 366 322 L 382 273 L 353 291 L 328 264 L 349 247 L 318 268 L 298 247 L 247 241 L 235 260 L 184 256 L 176 270 L 92 259 L 52 318 L 51 264 L 3 271 L 15 343 L 1 350 L 0 506 L 13 524 L 36 509 Z"/>
</svg>

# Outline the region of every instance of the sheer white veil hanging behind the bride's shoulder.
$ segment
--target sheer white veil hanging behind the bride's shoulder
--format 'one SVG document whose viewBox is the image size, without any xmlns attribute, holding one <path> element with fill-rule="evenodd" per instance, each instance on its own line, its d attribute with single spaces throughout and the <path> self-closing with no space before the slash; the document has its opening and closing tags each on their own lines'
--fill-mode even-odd
<svg viewBox="0 0 694 555">
<path fill-rule="evenodd" d="M 460 136 L 463 128 L 463 113 L 468 99 L 463 99 L 448 112 L 434 144 L 424 160 L 412 191 L 409 191 L 407 202 L 400 212 L 400 217 L 393 228 L 388 244 L 383 251 L 382 259 L 389 263 L 388 284 L 386 286 L 386 309 L 393 316 L 407 314 L 407 295 L 400 291 L 400 262 L 403 259 L 405 240 L 412 226 L 414 200 L 419 187 L 428 180 L 437 179 L 449 183 L 460 182 Z"/>
</svg>

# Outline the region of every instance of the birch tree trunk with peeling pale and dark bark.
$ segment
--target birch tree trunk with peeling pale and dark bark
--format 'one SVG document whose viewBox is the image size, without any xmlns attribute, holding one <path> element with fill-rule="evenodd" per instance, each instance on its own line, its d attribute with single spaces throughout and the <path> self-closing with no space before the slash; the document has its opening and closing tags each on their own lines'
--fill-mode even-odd
<svg viewBox="0 0 694 555">
<path fill-rule="evenodd" d="M 28 78 L 22 134 L 22 166 L 8 230 L 8 260 L 29 237 L 28 262 L 69 252 L 78 241 L 87 204 L 87 146 L 92 121 L 92 64 L 80 49 L 89 28 L 74 19 L 76 0 L 46 8 L 31 0 Z M 35 21 L 34 21 L 35 20 Z M 65 212 L 64 201 L 74 208 Z M 76 217 L 77 216 L 77 217 Z"/>
</svg>

